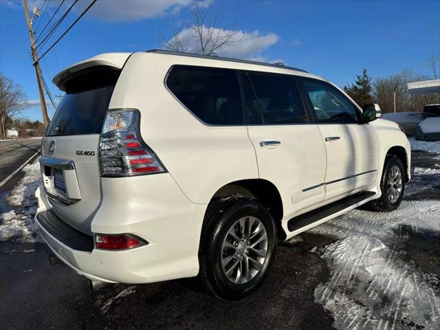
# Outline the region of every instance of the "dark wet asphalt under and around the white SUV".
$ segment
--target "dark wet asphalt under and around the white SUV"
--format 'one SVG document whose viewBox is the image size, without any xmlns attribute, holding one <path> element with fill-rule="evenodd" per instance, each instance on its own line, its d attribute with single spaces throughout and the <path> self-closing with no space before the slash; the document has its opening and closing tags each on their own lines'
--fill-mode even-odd
<svg viewBox="0 0 440 330">
<path fill-rule="evenodd" d="M 418 167 L 439 162 L 428 153 L 412 157 Z M 406 199 L 438 199 L 439 186 L 420 190 L 433 182 L 440 182 L 438 174 L 413 177 Z M 408 236 L 400 253 L 439 276 L 437 236 L 417 235 Z M 316 287 L 331 278 L 314 250 L 333 241 L 303 233 L 295 242 L 280 243 L 265 285 L 236 302 L 205 294 L 192 279 L 91 292 L 83 276 L 63 264 L 49 265 L 47 245 L 0 242 L 0 329 L 333 329 L 333 316 L 314 299 Z"/>
</svg>

